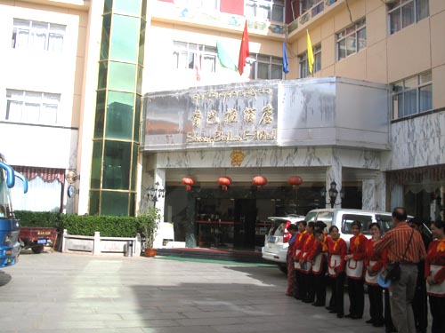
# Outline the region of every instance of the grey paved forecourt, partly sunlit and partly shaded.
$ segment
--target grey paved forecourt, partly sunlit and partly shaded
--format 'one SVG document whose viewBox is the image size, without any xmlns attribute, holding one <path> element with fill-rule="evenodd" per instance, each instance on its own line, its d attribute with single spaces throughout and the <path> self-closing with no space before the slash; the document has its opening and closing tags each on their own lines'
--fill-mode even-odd
<svg viewBox="0 0 445 333">
<path fill-rule="evenodd" d="M 274 266 L 25 252 L 0 270 L 0 332 L 384 332 L 286 297 L 286 283 Z"/>
</svg>

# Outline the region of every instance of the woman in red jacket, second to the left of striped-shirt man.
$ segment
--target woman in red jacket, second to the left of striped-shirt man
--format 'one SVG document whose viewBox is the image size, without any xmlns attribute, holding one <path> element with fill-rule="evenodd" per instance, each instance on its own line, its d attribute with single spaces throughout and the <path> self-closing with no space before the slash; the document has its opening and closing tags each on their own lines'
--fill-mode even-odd
<svg viewBox="0 0 445 333">
<path fill-rule="evenodd" d="M 348 277 L 348 295 L 350 301 L 349 313 L 346 318 L 360 319 L 365 309 L 365 287 L 363 284 L 364 260 L 368 238 L 360 233 L 361 224 L 353 221 L 351 231 L 353 236 L 349 241 L 349 251 L 346 260 L 346 276 Z"/>
</svg>

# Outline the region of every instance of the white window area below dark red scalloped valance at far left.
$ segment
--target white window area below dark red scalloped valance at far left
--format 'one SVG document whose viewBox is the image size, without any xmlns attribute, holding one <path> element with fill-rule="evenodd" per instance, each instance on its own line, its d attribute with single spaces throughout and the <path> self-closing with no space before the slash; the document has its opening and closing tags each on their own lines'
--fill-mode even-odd
<svg viewBox="0 0 445 333">
<path fill-rule="evenodd" d="M 28 182 L 28 193 L 23 193 L 20 180 L 11 189 L 14 210 L 60 211 L 62 184 L 58 180 L 45 182 L 37 176 Z"/>
</svg>

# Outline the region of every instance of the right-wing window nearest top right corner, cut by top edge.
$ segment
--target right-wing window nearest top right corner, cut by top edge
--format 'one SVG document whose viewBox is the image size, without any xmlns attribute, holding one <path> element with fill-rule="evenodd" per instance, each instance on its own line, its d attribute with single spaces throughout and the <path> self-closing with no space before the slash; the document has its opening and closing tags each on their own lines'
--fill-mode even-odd
<svg viewBox="0 0 445 333">
<path fill-rule="evenodd" d="M 392 0 L 387 6 L 390 35 L 430 15 L 428 0 Z"/>
</svg>

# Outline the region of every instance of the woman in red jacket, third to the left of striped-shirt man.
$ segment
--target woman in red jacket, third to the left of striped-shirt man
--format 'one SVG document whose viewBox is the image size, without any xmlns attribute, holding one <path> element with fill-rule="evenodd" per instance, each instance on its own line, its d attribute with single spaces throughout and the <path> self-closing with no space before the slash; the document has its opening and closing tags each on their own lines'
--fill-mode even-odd
<svg viewBox="0 0 445 333">
<path fill-rule="evenodd" d="M 327 309 L 336 313 L 338 318 L 344 317 L 344 256 L 347 253 L 346 242 L 340 238 L 336 226 L 329 227 L 328 244 L 328 275 L 331 279 L 332 295 Z"/>
</svg>

